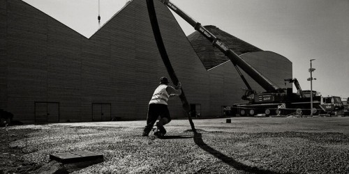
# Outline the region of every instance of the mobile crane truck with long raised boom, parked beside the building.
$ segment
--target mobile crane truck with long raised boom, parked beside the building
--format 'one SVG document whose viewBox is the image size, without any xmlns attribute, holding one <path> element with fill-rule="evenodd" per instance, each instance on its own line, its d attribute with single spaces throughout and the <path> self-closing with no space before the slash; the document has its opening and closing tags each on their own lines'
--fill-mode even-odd
<svg viewBox="0 0 349 174">
<path fill-rule="evenodd" d="M 235 54 L 232 49 L 229 49 L 219 38 L 205 29 L 202 24 L 196 22 L 195 19 L 189 17 L 183 10 L 175 6 L 169 0 L 159 0 L 161 3 L 168 6 L 174 13 L 177 13 L 181 18 L 183 18 L 188 24 L 194 27 L 196 31 L 201 33 L 207 40 L 209 40 L 214 47 L 217 47 L 225 56 L 227 56 L 232 64 L 235 66 L 239 76 L 244 81 L 247 89 L 244 89 L 244 95 L 242 95 L 242 100 L 246 100 L 243 104 L 233 104 L 230 108 L 231 113 L 239 114 L 240 116 L 255 116 L 258 113 L 264 113 L 265 115 L 270 114 L 308 114 L 311 113 L 311 98 L 313 99 L 313 111 L 312 113 L 319 114 L 320 112 L 332 113 L 343 108 L 343 104 L 339 102 L 338 97 L 330 97 L 326 99 L 313 93 L 313 96 L 306 96 L 302 88 L 300 88 L 297 79 L 285 79 L 290 83 L 295 84 L 297 88 L 297 93 L 292 93 L 292 88 L 280 88 L 273 81 L 265 77 L 258 70 L 253 68 L 252 65 L 247 63 L 243 58 Z M 257 93 L 253 90 L 251 86 L 246 81 L 244 75 L 239 69 L 244 70 L 249 77 L 256 81 L 262 88 L 265 89 L 263 93 Z M 340 97 L 339 97 L 340 99 Z"/>
</svg>

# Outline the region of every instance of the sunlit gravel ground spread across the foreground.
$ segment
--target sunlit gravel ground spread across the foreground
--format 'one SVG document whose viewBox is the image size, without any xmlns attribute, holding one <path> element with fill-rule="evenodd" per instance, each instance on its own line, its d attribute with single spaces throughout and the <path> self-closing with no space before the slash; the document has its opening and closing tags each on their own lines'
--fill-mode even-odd
<svg viewBox="0 0 349 174">
<path fill-rule="evenodd" d="M 348 117 L 194 123 L 200 134 L 187 120 L 173 120 L 164 139 L 140 136 L 144 121 L 10 127 L 16 136 L 10 143 L 1 137 L 8 151 L 0 164 L 15 162 L 0 170 L 36 173 L 50 154 L 88 150 L 104 162 L 74 173 L 349 173 Z"/>
</svg>

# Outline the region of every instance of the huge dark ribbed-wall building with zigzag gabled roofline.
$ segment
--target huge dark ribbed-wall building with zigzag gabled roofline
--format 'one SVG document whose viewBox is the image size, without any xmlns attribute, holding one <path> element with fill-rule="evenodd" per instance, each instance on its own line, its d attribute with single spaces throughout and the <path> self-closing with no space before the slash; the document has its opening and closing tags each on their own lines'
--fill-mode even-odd
<svg viewBox="0 0 349 174">
<path fill-rule="evenodd" d="M 222 106 L 241 102 L 244 83 L 232 63 L 197 32 L 187 38 L 170 10 L 158 1 L 154 5 L 168 56 L 192 108 L 202 117 L 221 116 Z M 228 33 L 222 36 L 279 86 L 292 78 L 287 58 L 234 42 Z M 168 76 L 143 0 L 128 3 L 91 38 L 24 1 L 0 0 L 0 38 L 0 109 L 24 123 L 145 119 L 158 79 Z M 203 54 L 205 49 L 214 54 Z M 169 108 L 172 118 L 186 116 L 180 100 L 170 100 Z"/>
</svg>

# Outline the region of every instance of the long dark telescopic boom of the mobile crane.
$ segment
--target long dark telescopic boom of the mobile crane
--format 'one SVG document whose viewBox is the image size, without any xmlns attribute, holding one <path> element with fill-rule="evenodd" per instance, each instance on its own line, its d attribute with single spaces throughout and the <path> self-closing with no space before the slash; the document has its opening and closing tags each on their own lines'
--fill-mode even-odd
<svg viewBox="0 0 349 174">
<path fill-rule="evenodd" d="M 216 38 L 215 35 L 210 33 L 207 29 L 205 29 L 204 26 L 202 26 L 199 22 L 196 22 L 193 18 L 189 17 L 184 11 L 179 9 L 177 6 L 174 6 L 173 3 L 171 3 L 169 0 L 159 0 L 162 3 L 164 3 L 166 6 L 168 6 L 171 10 L 173 10 L 177 15 L 182 17 L 186 22 L 191 24 L 191 26 L 194 27 L 196 31 L 199 31 L 202 35 L 205 36 L 210 42 L 212 42 L 212 45 L 217 47 L 225 56 L 228 56 L 230 61 L 233 65 L 239 66 L 239 68 L 242 68 L 244 72 L 246 72 L 253 80 L 255 80 L 262 88 L 264 88 L 267 91 L 280 91 L 281 88 L 274 84 L 272 81 L 267 79 L 263 74 L 258 72 L 258 70 L 255 70 L 250 64 L 248 64 L 243 58 L 235 54 L 235 52 L 232 52 L 231 49 L 229 49 L 226 45 L 224 45 L 223 42 L 221 42 L 220 39 Z"/>
</svg>

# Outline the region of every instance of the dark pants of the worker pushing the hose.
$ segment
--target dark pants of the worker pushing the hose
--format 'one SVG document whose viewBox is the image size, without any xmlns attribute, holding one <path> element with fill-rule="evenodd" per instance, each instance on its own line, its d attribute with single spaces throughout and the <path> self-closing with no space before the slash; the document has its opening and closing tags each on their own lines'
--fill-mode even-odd
<svg viewBox="0 0 349 174">
<path fill-rule="evenodd" d="M 162 125 L 165 125 L 171 121 L 170 111 L 168 111 L 168 105 L 166 105 L 166 104 L 149 104 L 148 116 L 147 116 L 147 126 L 145 127 L 144 131 L 151 130 L 151 128 L 154 126 L 156 120 L 158 120 L 158 116 L 160 116 L 160 118 L 167 118 L 167 122 L 164 122 L 164 124 L 162 124 Z"/>
</svg>

